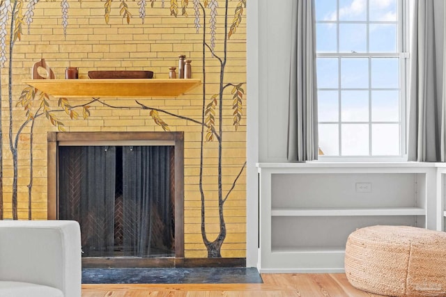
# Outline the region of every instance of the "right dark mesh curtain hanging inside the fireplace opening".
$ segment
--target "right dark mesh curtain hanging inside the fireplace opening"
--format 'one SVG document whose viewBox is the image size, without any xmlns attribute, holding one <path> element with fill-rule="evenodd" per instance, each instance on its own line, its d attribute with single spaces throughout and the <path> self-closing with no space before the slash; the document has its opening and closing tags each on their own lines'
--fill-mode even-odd
<svg viewBox="0 0 446 297">
<path fill-rule="evenodd" d="M 124 255 L 171 256 L 170 147 L 123 147 Z"/>
</svg>

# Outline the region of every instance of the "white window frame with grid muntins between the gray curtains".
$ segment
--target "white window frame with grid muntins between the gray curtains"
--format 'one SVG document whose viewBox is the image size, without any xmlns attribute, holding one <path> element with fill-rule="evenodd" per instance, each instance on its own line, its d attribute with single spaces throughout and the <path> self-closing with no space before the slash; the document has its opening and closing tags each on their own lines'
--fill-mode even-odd
<svg viewBox="0 0 446 297">
<path fill-rule="evenodd" d="M 407 161 L 407 101 L 408 101 L 408 61 L 409 61 L 409 5 L 408 0 L 397 0 L 398 5 L 398 50 L 396 53 L 376 53 L 376 52 L 364 52 L 364 53 L 346 53 L 346 52 L 339 52 L 339 0 L 337 1 L 337 47 L 338 52 L 334 53 L 316 53 L 316 58 L 338 58 L 338 72 L 339 72 L 339 85 L 336 89 L 339 93 L 341 93 L 341 85 L 340 85 L 340 77 L 341 77 L 341 58 L 370 58 L 374 57 L 389 57 L 389 58 L 399 58 L 399 65 L 400 65 L 400 81 L 399 81 L 399 155 L 394 156 L 324 156 L 319 155 L 318 161 L 337 161 L 337 162 L 343 162 L 343 161 L 372 161 L 372 162 L 382 162 L 382 161 L 388 161 L 388 162 L 400 162 L 400 161 Z M 369 7 L 369 0 L 367 0 L 367 8 Z M 330 21 L 328 21 L 330 22 Z M 367 24 L 369 22 L 369 16 L 367 13 L 367 21 L 362 22 L 363 24 Z M 316 21 L 316 24 L 324 23 L 323 21 Z M 341 23 L 348 23 L 341 21 Z M 355 24 L 361 23 L 361 22 L 353 22 Z M 369 30 L 367 30 L 367 42 L 369 42 Z M 369 80 L 371 79 L 371 67 L 369 64 Z M 369 81 L 370 86 L 370 81 Z M 319 89 L 318 89 L 319 90 Z M 322 89 L 322 90 L 330 90 L 330 89 Z M 373 90 L 373 88 L 369 88 L 368 90 Z M 372 134 L 371 134 L 371 97 L 369 92 L 369 120 L 368 122 L 360 122 L 361 124 L 367 124 L 369 125 L 369 154 L 371 154 L 371 145 L 372 145 Z M 318 123 L 332 123 L 337 124 L 339 129 L 338 134 L 338 141 L 339 141 L 339 154 L 341 154 L 341 129 L 342 129 L 342 122 L 341 122 L 341 96 L 339 94 L 339 104 L 338 104 L 338 121 L 337 122 L 318 122 Z M 355 124 L 356 122 L 348 122 L 349 124 Z M 373 122 L 373 123 L 381 123 L 381 122 Z M 386 122 L 382 122 L 386 123 Z M 394 123 L 394 122 L 392 122 Z"/>
</svg>

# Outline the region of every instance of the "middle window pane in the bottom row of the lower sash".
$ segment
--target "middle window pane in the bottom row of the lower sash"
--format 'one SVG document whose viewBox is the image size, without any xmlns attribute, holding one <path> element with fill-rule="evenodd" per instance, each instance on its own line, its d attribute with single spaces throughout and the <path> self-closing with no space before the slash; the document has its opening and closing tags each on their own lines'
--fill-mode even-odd
<svg viewBox="0 0 446 297">
<path fill-rule="evenodd" d="M 341 147 L 343 156 L 368 156 L 369 125 L 367 124 L 342 125 Z"/>
</svg>

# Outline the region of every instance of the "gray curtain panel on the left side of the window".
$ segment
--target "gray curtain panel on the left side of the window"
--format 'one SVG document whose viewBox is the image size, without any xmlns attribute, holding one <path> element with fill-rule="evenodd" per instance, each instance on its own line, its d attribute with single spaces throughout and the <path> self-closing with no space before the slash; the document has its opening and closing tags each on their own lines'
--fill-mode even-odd
<svg viewBox="0 0 446 297">
<path fill-rule="evenodd" d="M 318 159 L 316 28 L 314 1 L 293 1 L 288 161 Z"/>
</svg>

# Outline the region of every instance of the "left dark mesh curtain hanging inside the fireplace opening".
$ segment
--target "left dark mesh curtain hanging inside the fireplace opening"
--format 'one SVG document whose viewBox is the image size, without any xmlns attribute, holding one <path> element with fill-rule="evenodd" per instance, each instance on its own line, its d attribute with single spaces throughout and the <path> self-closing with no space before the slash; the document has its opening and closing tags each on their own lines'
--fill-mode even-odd
<svg viewBox="0 0 446 297">
<path fill-rule="evenodd" d="M 59 219 L 79 222 L 84 257 L 114 254 L 115 168 L 116 147 L 59 147 Z"/>
</svg>

